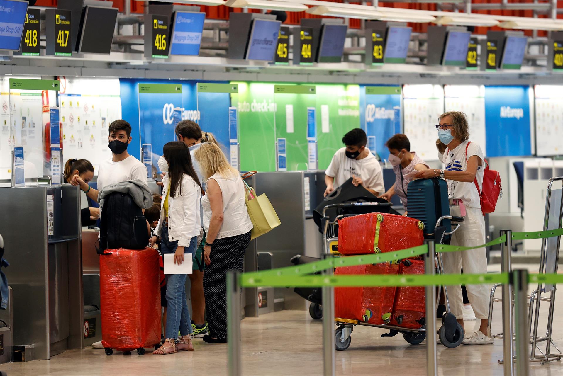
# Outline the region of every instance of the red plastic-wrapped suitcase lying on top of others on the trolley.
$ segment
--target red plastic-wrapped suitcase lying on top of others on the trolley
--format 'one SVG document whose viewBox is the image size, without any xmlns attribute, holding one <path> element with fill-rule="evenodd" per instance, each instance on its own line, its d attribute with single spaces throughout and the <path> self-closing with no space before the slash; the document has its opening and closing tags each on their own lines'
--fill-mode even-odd
<svg viewBox="0 0 563 376">
<path fill-rule="evenodd" d="M 415 218 L 369 213 L 338 221 L 338 252 L 393 252 L 424 243 L 424 225 Z"/>
</svg>

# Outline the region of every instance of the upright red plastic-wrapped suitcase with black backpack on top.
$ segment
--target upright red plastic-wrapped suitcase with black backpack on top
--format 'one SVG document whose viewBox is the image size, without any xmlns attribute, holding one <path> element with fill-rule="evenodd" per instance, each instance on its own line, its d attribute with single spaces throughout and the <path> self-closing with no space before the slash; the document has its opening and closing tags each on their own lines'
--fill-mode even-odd
<svg viewBox="0 0 563 376">
<path fill-rule="evenodd" d="M 100 255 L 102 345 L 119 351 L 160 342 L 160 267 L 156 249 L 106 249 Z M 142 355 L 144 350 L 138 350 Z M 111 355 L 111 351 L 106 350 Z"/>
</svg>

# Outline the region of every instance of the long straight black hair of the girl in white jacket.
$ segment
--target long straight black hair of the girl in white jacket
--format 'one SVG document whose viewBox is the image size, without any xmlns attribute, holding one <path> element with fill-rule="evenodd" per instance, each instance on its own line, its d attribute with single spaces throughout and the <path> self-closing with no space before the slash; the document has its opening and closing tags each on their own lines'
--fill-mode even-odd
<svg viewBox="0 0 563 376">
<path fill-rule="evenodd" d="M 168 176 L 170 177 L 170 196 L 175 197 L 176 192 L 182 194 L 182 176 L 189 175 L 202 191 L 198 174 L 195 173 L 194 165 L 191 163 L 190 150 L 184 142 L 171 141 L 163 147 L 163 155 L 168 162 Z"/>
</svg>

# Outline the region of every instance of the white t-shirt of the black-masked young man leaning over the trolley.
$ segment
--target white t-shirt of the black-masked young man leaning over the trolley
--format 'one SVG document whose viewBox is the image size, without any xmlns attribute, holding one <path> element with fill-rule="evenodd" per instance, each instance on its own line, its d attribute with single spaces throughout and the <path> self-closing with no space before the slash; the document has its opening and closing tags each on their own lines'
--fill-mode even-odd
<svg viewBox="0 0 563 376">
<path fill-rule="evenodd" d="M 352 159 L 346 156 L 346 147 L 338 149 L 327 171 L 328 176 L 334 177 L 334 187 L 339 187 L 346 182 L 352 175 L 360 177 L 364 181 L 364 187 L 373 189 L 379 194 L 385 192 L 383 186 L 383 172 L 376 157 L 369 151 L 368 156 L 364 159 Z"/>
</svg>

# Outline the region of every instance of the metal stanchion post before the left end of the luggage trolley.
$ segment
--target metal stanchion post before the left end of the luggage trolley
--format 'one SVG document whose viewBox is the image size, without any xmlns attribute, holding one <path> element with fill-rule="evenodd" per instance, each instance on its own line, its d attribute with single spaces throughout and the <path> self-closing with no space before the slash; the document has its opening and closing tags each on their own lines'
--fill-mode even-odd
<svg viewBox="0 0 563 376">
<path fill-rule="evenodd" d="M 332 258 L 332 254 L 325 255 Z M 323 273 L 333 275 L 333 268 Z M 334 288 L 323 287 L 323 375 L 334 376 Z"/>
</svg>

